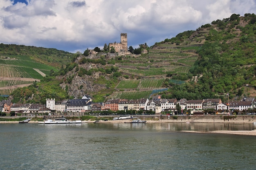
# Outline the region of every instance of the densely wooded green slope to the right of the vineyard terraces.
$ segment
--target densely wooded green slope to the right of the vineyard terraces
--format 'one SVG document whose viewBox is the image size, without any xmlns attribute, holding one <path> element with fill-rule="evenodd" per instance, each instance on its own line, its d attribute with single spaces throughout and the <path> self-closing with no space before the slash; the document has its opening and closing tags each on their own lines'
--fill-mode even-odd
<svg viewBox="0 0 256 170">
<path fill-rule="evenodd" d="M 168 97 L 205 99 L 229 93 L 230 99 L 256 97 L 256 15 L 237 14 L 213 21 L 192 31 L 188 37 L 165 40 L 177 44 L 203 43 L 197 51 L 199 60 L 190 73 L 200 77 L 197 83 L 173 86 Z M 186 35 L 188 32 L 184 32 Z"/>
</svg>

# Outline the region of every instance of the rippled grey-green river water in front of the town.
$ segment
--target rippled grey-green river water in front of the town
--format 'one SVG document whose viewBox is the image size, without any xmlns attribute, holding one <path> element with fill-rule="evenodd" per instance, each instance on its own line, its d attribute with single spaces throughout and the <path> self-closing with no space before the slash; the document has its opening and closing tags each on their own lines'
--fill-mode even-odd
<svg viewBox="0 0 256 170">
<path fill-rule="evenodd" d="M 253 124 L 0 124 L 0 170 L 255 170 Z"/>
</svg>

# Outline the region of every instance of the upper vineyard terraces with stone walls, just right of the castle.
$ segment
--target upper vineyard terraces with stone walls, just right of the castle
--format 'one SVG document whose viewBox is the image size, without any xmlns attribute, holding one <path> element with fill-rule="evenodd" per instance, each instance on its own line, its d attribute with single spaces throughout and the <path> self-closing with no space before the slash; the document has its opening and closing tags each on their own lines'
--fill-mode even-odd
<svg viewBox="0 0 256 170">
<path fill-rule="evenodd" d="M 145 77 L 150 79 L 153 76 L 159 79 L 168 72 L 188 73 L 191 66 L 198 60 L 198 54 L 195 52 L 201 46 L 174 46 L 173 44 L 159 44 L 149 49 L 148 54 L 124 58 L 122 63 L 117 63 L 117 66 L 124 74 L 143 76 L 144 79 Z"/>
</svg>

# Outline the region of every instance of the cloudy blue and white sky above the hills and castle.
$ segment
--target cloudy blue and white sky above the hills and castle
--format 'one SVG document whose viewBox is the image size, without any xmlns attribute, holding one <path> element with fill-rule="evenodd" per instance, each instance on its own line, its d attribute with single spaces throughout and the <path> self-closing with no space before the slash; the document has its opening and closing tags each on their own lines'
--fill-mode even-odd
<svg viewBox="0 0 256 170">
<path fill-rule="evenodd" d="M 255 9 L 256 0 L 0 0 L 0 43 L 83 53 L 127 33 L 137 48 Z"/>
</svg>

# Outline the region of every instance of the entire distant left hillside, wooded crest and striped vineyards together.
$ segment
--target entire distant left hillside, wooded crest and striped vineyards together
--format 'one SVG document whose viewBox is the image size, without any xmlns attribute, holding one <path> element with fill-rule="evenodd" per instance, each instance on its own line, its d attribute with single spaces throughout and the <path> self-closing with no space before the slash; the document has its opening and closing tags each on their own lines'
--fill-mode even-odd
<svg viewBox="0 0 256 170">
<path fill-rule="evenodd" d="M 0 44 L 0 95 L 8 96 L 16 88 L 40 82 L 61 64 L 70 63 L 73 56 L 56 49 Z"/>
</svg>

